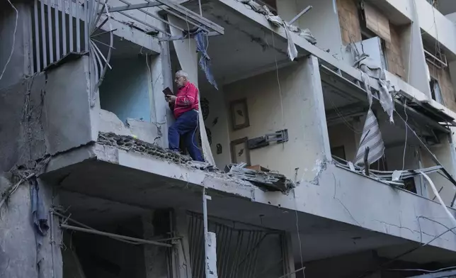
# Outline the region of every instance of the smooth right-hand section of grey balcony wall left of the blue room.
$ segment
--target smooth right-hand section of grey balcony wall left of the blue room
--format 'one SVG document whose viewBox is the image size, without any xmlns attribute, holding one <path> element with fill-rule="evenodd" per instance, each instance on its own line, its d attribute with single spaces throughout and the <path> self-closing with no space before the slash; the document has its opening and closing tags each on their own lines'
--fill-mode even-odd
<svg viewBox="0 0 456 278">
<path fill-rule="evenodd" d="M 98 110 L 90 107 L 89 88 L 87 56 L 47 73 L 43 125 L 47 151 L 51 155 L 98 138 L 93 120 Z"/>
</svg>

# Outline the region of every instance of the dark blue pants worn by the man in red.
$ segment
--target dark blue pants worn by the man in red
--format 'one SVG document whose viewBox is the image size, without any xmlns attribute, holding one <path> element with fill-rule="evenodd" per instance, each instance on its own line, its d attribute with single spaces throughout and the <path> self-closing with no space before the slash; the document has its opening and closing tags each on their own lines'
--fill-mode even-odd
<svg viewBox="0 0 456 278">
<path fill-rule="evenodd" d="M 204 161 L 196 145 L 195 133 L 198 128 L 198 112 L 194 110 L 183 113 L 168 130 L 169 149 L 179 151 L 179 137 L 185 138 L 186 148 L 193 160 Z"/>
</svg>

